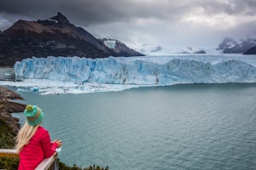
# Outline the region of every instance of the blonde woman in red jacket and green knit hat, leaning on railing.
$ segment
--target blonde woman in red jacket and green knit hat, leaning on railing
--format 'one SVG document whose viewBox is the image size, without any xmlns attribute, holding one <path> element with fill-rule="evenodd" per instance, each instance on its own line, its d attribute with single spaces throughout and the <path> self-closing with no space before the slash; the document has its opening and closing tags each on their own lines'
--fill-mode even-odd
<svg viewBox="0 0 256 170">
<path fill-rule="evenodd" d="M 32 170 L 44 158 L 52 156 L 62 143 L 61 140 L 50 142 L 48 131 L 39 125 L 44 112 L 37 105 L 27 105 L 24 114 L 26 122 L 18 133 L 16 150 L 20 152 L 19 170 Z"/>
</svg>

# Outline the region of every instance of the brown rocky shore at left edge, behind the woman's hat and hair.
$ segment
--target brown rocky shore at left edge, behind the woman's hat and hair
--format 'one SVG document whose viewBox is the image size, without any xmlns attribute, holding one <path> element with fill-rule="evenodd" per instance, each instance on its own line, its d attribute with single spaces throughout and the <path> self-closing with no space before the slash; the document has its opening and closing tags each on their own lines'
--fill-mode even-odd
<svg viewBox="0 0 256 170">
<path fill-rule="evenodd" d="M 20 94 L 3 88 L 0 86 L 0 122 L 1 122 L 1 136 L 0 140 L 3 140 L 0 148 L 13 148 L 15 145 L 15 137 L 20 130 L 19 119 L 12 116 L 11 113 L 22 112 L 25 110 L 26 105 L 16 103 L 12 99 L 22 99 Z"/>
</svg>

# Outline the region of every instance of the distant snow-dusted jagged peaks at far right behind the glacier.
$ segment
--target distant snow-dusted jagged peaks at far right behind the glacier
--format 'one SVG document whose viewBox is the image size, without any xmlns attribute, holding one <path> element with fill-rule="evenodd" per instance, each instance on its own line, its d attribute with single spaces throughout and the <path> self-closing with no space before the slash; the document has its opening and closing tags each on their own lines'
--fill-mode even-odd
<svg viewBox="0 0 256 170">
<path fill-rule="evenodd" d="M 223 42 L 218 45 L 218 49 L 223 50 L 224 54 L 243 54 L 254 46 L 256 46 L 256 37 L 241 39 L 240 43 L 230 37 L 225 37 Z"/>
</svg>

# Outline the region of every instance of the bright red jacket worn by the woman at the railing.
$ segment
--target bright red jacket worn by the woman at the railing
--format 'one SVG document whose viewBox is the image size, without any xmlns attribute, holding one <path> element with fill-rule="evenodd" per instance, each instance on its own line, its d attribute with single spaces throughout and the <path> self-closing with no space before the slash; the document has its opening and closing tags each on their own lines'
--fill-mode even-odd
<svg viewBox="0 0 256 170">
<path fill-rule="evenodd" d="M 57 143 L 50 143 L 49 133 L 44 127 L 38 127 L 29 143 L 20 150 L 19 170 L 33 170 L 44 158 L 55 153 Z"/>
</svg>

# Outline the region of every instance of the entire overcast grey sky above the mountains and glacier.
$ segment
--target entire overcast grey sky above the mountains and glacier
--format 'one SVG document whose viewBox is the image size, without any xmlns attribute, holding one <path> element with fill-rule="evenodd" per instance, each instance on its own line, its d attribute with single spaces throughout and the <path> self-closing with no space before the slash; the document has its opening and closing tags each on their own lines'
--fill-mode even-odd
<svg viewBox="0 0 256 170">
<path fill-rule="evenodd" d="M 61 12 L 76 26 L 131 48 L 217 48 L 256 33 L 256 0 L 1 0 L 0 30 Z"/>
</svg>

